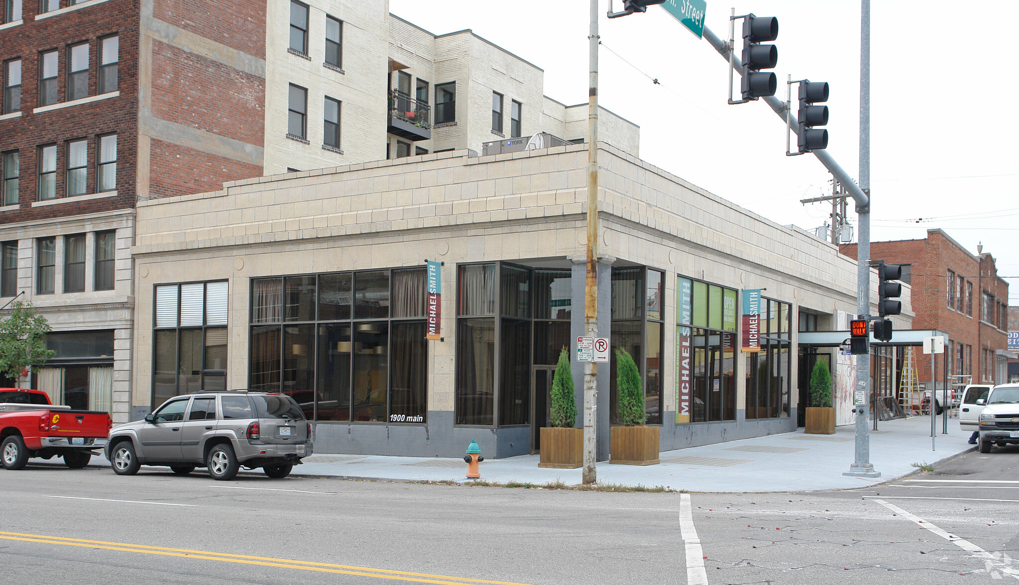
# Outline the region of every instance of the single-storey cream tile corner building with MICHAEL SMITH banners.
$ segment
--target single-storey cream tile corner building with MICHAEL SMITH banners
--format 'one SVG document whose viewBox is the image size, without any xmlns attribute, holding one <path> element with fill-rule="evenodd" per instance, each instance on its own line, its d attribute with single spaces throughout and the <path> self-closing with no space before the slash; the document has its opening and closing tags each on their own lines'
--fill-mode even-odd
<svg viewBox="0 0 1019 585">
<path fill-rule="evenodd" d="M 475 154 L 140 203 L 135 416 L 209 384 L 253 387 L 301 403 L 320 453 L 540 449 L 550 373 L 583 332 L 586 147 Z M 661 448 L 794 430 L 801 320 L 852 310 L 855 262 L 610 145 L 599 160 L 598 331 L 639 364 Z M 439 339 L 425 334 L 427 261 Z M 614 363 L 600 373 L 605 459 Z"/>
</svg>

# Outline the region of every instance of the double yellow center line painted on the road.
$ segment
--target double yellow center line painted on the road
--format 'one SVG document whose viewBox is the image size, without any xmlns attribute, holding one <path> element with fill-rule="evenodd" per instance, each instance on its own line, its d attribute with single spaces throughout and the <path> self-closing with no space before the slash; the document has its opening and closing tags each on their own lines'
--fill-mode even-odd
<svg viewBox="0 0 1019 585">
<path fill-rule="evenodd" d="M 446 575 L 411 573 L 407 571 L 392 571 L 389 569 L 373 569 L 370 567 L 333 565 L 330 563 L 315 563 L 311 561 L 292 561 L 288 559 L 274 559 L 271 556 L 251 556 L 247 554 L 231 554 L 227 552 L 212 552 L 208 550 L 191 550 L 187 548 L 169 548 L 162 546 L 149 546 L 146 544 L 108 542 L 105 540 L 86 540 L 83 538 L 67 538 L 63 536 L 21 534 L 18 532 L 0 532 L 0 539 L 40 542 L 43 544 L 62 544 L 65 546 L 83 546 L 88 548 L 102 548 L 106 550 L 123 550 L 127 552 L 143 552 L 146 554 L 160 554 L 163 556 L 182 556 L 187 559 L 202 559 L 206 561 L 219 561 L 222 563 L 237 563 L 243 565 L 261 565 L 264 567 L 300 569 L 302 571 L 338 573 L 360 577 L 375 577 L 378 579 L 435 583 L 438 585 L 463 585 L 464 583 L 484 583 L 486 585 L 527 585 L 524 583 L 514 583 L 509 581 L 486 581 L 483 579 L 470 579 L 467 577 L 449 577 Z"/>
</svg>

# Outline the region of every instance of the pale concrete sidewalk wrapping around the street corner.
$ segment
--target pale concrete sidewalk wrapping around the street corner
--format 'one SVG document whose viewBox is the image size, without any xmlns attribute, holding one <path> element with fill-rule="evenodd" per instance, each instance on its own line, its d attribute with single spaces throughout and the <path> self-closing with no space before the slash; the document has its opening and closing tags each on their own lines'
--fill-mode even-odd
<svg viewBox="0 0 1019 585">
<path fill-rule="evenodd" d="M 878 478 L 843 475 L 853 464 L 853 425 L 836 429 L 834 435 L 792 433 L 755 437 L 660 454 L 661 463 L 651 466 L 597 464 L 599 484 L 667 487 L 688 491 L 800 491 L 846 489 L 873 485 L 916 471 L 911 464 L 933 464 L 973 448 L 969 432 L 959 429 L 959 419 L 949 419 L 949 432 L 942 434 L 937 419 L 936 450 L 930 449 L 930 418 L 878 422 L 870 431 L 870 462 Z M 871 428 L 873 428 L 871 426 Z M 465 449 L 467 445 L 464 445 Z M 482 456 L 485 454 L 482 453 Z M 580 469 L 544 469 L 538 456 L 522 456 L 481 463 L 481 480 L 497 483 L 543 485 L 555 481 L 581 483 Z M 293 468 L 292 475 L 329 476 L 344 479 L 392 481 L 455 481 L 465 477 L 463 459 L 424 459 L 359 455 L 313 455 Z M 103 457 L 92 465 L 109 466 Z M 261 470 L 256 472 L 259 473 Z"/>
</svg>

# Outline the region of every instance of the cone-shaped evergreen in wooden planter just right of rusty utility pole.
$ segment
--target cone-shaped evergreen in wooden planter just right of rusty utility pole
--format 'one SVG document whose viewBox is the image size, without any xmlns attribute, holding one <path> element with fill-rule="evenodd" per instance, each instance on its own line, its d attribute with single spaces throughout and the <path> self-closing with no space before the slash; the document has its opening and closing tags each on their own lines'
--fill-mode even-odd
<svg viewBox="0 0 1019 585">
<path fill-rule="evenodd" d="M 640 371 L 626 350 L 615 350 L 620 422 L 611 427 L 608 463 L 654 465 L 658 463 L 658 427 L 644 424 L 647 413 Z"/>
</svg>

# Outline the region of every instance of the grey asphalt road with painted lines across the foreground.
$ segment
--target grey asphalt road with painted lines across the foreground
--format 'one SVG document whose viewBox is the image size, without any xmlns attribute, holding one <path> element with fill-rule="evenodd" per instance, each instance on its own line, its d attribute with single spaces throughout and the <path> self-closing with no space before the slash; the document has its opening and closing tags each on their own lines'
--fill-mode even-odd
<svg viewBox="0 0 1019 585">
<path fill-rule="evenodd" d="M 1019 448 L 866 490 L 606 493 L 0 471 L 3 582 L 1019 580 Z"/>
</svg>

